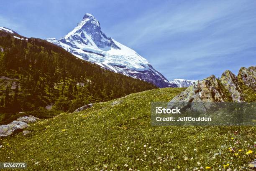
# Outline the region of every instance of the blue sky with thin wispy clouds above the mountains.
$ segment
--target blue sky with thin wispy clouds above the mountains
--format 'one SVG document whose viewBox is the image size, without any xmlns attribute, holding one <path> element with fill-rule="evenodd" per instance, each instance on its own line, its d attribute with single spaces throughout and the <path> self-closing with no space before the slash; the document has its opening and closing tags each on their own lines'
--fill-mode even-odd
<svg viewBox="0 0 256 171">
<path fill-rule="evenodd" d="M 256 65 L 255 0 L 0 0 L 0 26 L 61 38 L 85 13 L 169 80 Z"/>
</svg>

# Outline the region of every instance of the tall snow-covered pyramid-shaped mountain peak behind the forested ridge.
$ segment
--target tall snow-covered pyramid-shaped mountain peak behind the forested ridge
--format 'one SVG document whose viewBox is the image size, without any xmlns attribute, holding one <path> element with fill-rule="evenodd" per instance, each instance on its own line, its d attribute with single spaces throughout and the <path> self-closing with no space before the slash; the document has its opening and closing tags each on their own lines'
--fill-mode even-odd
<svg viewBox="0 0 256 171">
<path fill-rule="evenodd" d="M 77 27 L 63 38 L 48 38 L 47 41 L 64 48 L 78 58 L 116 73 L 145 80 L 160 88 L 177 87 L 155 70 L 148 60 L 131 48 L 107 37 L 101 31 L 99 21 L 89 13 L 86 13 Z"/>
</svg>

